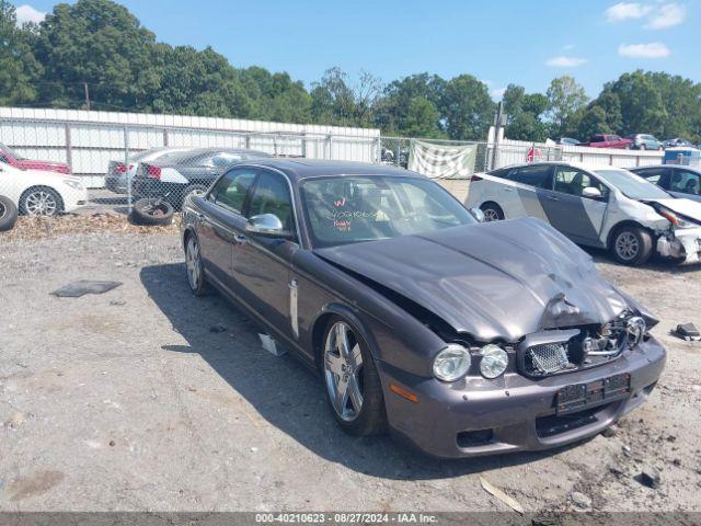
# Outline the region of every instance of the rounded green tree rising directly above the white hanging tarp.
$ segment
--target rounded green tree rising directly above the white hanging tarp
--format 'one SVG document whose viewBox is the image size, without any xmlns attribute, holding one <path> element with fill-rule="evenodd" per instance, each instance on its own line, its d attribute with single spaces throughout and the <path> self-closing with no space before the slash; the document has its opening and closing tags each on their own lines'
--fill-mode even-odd
<svg viewBox="0 0 701 526">
<path fill-rule="evenodd" d="M 446 82 L 438 111 L 448 136 L 457 140 L 484 140 L 494 115 L 494 101 L 484 82 L 461 75 Z"/>
</svg>

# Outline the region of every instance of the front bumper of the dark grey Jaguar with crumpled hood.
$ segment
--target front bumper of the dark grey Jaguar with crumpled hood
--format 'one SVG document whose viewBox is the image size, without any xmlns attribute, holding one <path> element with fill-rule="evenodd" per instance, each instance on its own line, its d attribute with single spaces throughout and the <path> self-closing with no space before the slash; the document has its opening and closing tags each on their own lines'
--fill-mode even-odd
<svg viewBox="0 0 701 526">
<path fill-rule="evenodd" d="M 665 356 L 663 346 L 651 338 L 612 362 L 590 369 L 538 381 L 518 374 L 496 380 L 471 377 L 467 387 L 420 378 L 384 363 L 379 364 L 379 369 L 394 434 L 432 456 L 459 458 L 548 449 L 596 435 L 647 398 L 662 374 Z M 555 414 L 560 389 L 623 374 L 630 375 L 628 393 L 581 412 Z M 389 389 L 390 384 L 414 392 L 418 403 L 397 396 Z M 578 413 L 583 425 L 562 425 L 562 432 L 558 432 L 558 419 L 566 424 Z"/>
</svg>

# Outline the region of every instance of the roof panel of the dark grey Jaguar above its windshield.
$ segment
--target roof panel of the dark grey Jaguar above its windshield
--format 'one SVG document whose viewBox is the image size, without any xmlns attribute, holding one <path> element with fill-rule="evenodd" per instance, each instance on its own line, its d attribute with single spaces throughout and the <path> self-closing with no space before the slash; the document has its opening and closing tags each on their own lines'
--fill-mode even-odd
<svg viewBox="0 0 701 526">
<path fill-rule="evenodd" d="M 403 168 L 371 164 L 369 162 L 329 161 L 324 159 L 306 158 L 267 158 L 244 161 L 244 164 L 256 164 L 279 170 L 294 181 L 336 175 L 389 175 L 424 179 L 424 175 L 404 170 Z"/>
</svg>

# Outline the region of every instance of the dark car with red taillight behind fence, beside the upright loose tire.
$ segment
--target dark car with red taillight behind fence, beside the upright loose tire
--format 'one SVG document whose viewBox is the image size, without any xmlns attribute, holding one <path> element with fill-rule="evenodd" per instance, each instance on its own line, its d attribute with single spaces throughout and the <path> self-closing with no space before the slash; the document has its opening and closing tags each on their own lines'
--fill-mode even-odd
<svg viewBox="0 0 701 526">
<path fill-rule="evenodd" d="M 239 148 L 197 148 L 142 161 L 134 175 L 134 191 L 141 197 L 165 196 L 180 208 L 191 192 L 206 191 L 231 164 L 273 157 Z"/>
</svg>

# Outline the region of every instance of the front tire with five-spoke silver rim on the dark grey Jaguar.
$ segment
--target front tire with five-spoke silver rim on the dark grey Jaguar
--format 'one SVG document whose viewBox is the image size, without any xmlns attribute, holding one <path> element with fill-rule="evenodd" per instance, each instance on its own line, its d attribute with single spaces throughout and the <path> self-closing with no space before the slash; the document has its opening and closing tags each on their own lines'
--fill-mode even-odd
<svg viewBox="0 0 701 526">
<path fill-rule="evenodd" d="M 319 362 L 326 400 L 341 428 L 353 436 L 382 433 L 387 425 L 382 385 L 359 332 L 344 319 L 332 318 Z"/>
</svg>

